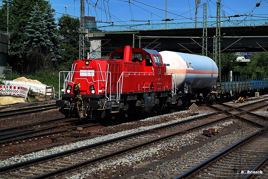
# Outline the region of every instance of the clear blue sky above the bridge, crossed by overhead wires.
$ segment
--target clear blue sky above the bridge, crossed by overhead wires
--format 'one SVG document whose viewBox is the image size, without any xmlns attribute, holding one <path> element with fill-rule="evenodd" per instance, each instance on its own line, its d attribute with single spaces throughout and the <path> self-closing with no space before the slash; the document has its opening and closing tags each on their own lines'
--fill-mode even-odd
<svg viewBox="0 0 268 179">
<path fill-rule="evenodd" d="M 208 21 L 215 21 L 217 0 L 201 0 L 198 8 L 198 21 L 203 21 L 203 3 L 207 3 Z M 96 8 L 93 7 L 97 2 Z M 85 15 L 95 16 L 96 20 L 103 22 L 113 21 L 114 24 L 144 24 L 163 23 L 165 19 L 165 0 L 85 0 Z M 260 6 L 256 7 L 256 3 Z M 56 18 L 65 14 L 64 6 L 68 6 L 67 14 L 75 17 L 80 16 L 79 0 L 50 0 L 52 8 L 55 9 Z M 142 4 L 143 3 L 143 4 Z M 147 6 L 147 5 L 149 6 Z M 246 17 L 247 19 L 268 19 L 268 0 L 222 0 L 221 16 L 233 16 L 235 14 L 253 14 L 259 17 Z M 150 7 L 152 6 L 152 7 Z M 168 0 L 167 18 L 175 19 L 172 22 L 193 22 L 195 19 L 195 0 Z M 255 8 L 256 7 L 256 8 Z M 158 8 L 158 9 L 157 9 Z M 254 9 L 255 8 L 255 9 Z M 252 12 L 253 10 L 253 12 Z M 106 11 L 106 12 L 105 12 Z M 60 14 L 62 13 L 62 14 Z M 261 15 L 260 15 L 261 14 Z M 243 17 L 230 18 L 230 20 L 243 20 Z M 136 22 L 131 22 L 135 20 Z M 226 20 L 226 19 L 225 19 Z M 125 21 L 125 22 L 116 22 Z M 141 21 L 141 22 L 139 22 Z M 159 22 L 160 21 L 160 22 Z M 268 21 L 268 20 L 267 20 Z"/>
</svg>

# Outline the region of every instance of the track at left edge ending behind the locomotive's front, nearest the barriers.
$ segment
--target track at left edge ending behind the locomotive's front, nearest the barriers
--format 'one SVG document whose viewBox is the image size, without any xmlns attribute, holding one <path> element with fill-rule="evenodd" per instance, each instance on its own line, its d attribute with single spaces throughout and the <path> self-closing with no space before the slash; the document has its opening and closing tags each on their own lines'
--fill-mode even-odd
<svg viewBox="0 0 268 179">
<path fill-rule="evenodd" d="M 21 109 L 13 109 L 9 111 L 0 111 L 0 118 L 6 118 L 16 115 L 22 115 L 22 114 L 28 114 L 33 112 L 39 112 L 39 111 L 47 111 L 50 109 L 56 109 L 55 104 L 49 104 L 49 105 L 42 105 L 42 106 L 35 106 L 35 107 L 29 107 L 29 108 L 21 108 Z"/>
</svg>

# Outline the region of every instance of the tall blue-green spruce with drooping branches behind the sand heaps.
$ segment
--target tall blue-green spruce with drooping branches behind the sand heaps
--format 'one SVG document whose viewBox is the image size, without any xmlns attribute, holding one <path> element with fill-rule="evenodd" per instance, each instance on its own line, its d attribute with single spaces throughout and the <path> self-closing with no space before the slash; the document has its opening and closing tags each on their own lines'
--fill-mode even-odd
<svg viewBox="0 0 268 179">
<path fill-rule="evenodd" d="M 61 36 L 54 33 L 55 18 L 51 9 L 51 4 L 42 11 L 39 6 L 34 6 L 26 26 L 26 49 L 27 49 L 27 72 L 37 70 L 54 70 L 56 61 L 60 58 L 61 49 L 58 41 Z"/>
</svg>

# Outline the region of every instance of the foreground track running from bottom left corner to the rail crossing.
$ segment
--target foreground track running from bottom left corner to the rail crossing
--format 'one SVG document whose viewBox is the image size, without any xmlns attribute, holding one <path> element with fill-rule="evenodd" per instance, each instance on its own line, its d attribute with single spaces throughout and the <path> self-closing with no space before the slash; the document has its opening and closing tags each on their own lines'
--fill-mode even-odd
<svg viewBox="0 0 268 179">
<path fill-rule="evenodd" d="M 133 149 L 137 149 L 144 145 L 152 144 L 157 141 L 182 134 L 185 131 L 190 131 L 202 126 L 210 125 L 212 123 L 219 122 L 230 117 L 230 115 L 224 115 L 224 112 L 217 112 L 214 114 L 202 116 L 202 118 L 192 118 L 190 120 L 181 121 L 172 125 L 161 126 L 150 130 L 141 131 L 135 134 L 118 137 L 116 139 L 104 141 L 101 143 L 80 147 L 77 149 L 61 152 L 50 156 L 45 156 L 30 161 L 25 161 L 23 162 L 23 164 L 18 163 L 0 168 L 0 177 L 6 178 L 7 176 L 13 176 L 14 178 L 16 178 L 18 176 L 25 176 L 27 175 L 27 173 L 28 175 L 29 173 L 31 173 L 30 175 L 33 175 L 33 173 L 39 173 L 38 176 L 31 178 L 45 178 L 53 176 L 55 174 L 67 172 L 70 169 L 76 169 L 77 167 L 90 165 L 99 160 L 110 158 L 115 155 L 122 154 Z M 66 167 L 62 167 L 63 163 L 65 163 L 64 165 L 66 165 Z M 26 169 L 24 167 L 24 169 L 16 170 L 18 167 L 21 168 L 25 165 L 27 165 Z M 47 171 L 48 168 L 52 170 L 51 167 L 49 167 L 48 165 L 53 166 L 53 168 L 56 170 L 53 169 L 53 171 L 50 171 L 48 173 L 44 172 Z M 40 169 L 38 169 L 39 167 Z M 4 172 L 6 170 L 10 170 L 10 172 L 5 174 Z M 40 175 L 40 172 L 43 174 Z"/>
</svg>

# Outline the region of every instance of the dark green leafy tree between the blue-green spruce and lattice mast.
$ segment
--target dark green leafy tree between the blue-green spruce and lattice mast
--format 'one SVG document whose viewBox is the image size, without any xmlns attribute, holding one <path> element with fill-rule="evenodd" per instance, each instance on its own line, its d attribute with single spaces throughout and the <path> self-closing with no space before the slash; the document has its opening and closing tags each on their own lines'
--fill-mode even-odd
<svg viewBox="0 0 268 179">
<path fill-rule="evenodd" d="M 79 58 L 79 19 L 62 15 L 58 19 L 59 28 L 57 33 L 63 36 L 60 47 L 65 49 L 61 52 L 60 71 L 71 70 L 74 60 Z"/>
</svg>

